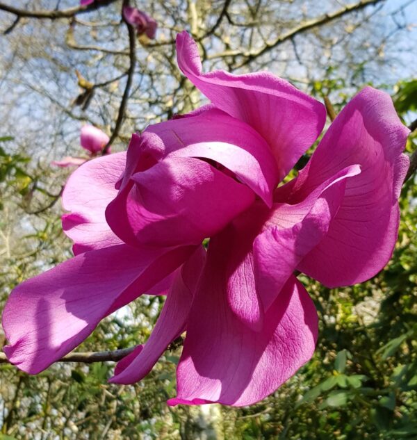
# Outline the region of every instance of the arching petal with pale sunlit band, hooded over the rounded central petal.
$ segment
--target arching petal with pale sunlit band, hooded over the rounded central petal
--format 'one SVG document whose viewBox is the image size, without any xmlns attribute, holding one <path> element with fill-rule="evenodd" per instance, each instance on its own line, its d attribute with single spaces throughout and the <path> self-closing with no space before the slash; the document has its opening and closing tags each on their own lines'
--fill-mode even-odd
<svg viewBox="0 0 417 440">
<path fill-rule="evenodd" d="M 155 124 L 142 134 L 149 145 L 164 145 L 165 155 L 216 161 L 236 174 L 268 205 L 279 181 L 277 165 L 259 133 L 215 108 Z"/>
</svg>

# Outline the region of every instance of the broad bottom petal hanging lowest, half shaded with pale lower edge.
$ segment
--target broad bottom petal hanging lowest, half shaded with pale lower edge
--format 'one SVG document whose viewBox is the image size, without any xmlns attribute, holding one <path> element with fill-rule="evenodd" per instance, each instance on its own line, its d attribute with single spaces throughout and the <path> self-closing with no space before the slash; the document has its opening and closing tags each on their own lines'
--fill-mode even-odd
<svg viewBox="0 0 417 440">
<path fill-rule="evenodd" d="M 177 369 L 177 398 L 170 405 L 251 405 L 275 391 L 313 355 L 316 309 L 295 277 L 265 314 L 258 332 L 231 312 L 224 281 L 222 266 L 208 256 Z"/>
</svg>

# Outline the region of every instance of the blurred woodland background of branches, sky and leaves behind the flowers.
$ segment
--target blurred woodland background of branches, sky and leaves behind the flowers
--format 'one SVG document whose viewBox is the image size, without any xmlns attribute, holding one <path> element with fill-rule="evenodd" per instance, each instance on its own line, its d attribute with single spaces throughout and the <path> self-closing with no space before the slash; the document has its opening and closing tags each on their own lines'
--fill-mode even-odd
<svg viewBox="0 0 417 440">
<path fill-rule="evenodd" d="M 123 3 L 156 19 L 155 40 L 126 26 Z M 16 284 L 71 256 L 60 229 L 69 171 L 51 161 L 82 154 L 82 124 L 121 151 L 133 131 L 204 103 L 177 68 L 177 32 L 199 42 L 206 71 L 269 70 L 336 112 L 364 85 L 386 90 L 414 129 L 412 153 L 416 26 L 409 0 L 0 2 L 0 308 Z M 179 347 L 133 386 L 107 384 L 111 361 L 57 363 L 35 377 L 2 363 L 0 439 L 416 439 L 416 200 L 412 175 L 398 245 L 377 277 L 332 290 L 300 278 L 319 311 L 318 348 L 258 405 L 167 407 Z M 79 351 L 146 341 L 162 301 L 142 296 Z"/>
</svg>

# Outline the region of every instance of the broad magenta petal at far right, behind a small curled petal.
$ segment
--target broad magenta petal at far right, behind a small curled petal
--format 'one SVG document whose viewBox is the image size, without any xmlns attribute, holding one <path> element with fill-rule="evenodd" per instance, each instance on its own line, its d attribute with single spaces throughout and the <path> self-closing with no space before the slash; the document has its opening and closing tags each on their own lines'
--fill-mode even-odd
<svg viewBox="0 0 417 440">
<path fill-rule="evenodd" d="M 348 179 L 345 198 L 327 236 L 297 267 L 326 286 L 363 282 L 391 258 L 398 234 L 398 196 L 408 168 L 402 154 L 409 130 L 391 98 L 366 88 L 336 117 L 311 161 L 295 182 L 295 193 L 357 163 L 361 174 Z"/>
</svg>

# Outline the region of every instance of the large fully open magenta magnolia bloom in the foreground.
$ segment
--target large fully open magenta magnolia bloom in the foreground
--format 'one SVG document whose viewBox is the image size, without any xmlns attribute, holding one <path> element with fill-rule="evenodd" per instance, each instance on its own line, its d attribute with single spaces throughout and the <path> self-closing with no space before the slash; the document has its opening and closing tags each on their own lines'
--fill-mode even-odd
<svg viewBox="0 0 417 440">
<path fill-rule="evenodd" d="M 389 261 L 408 130 L 388 95 L 365 88 L 306 168 L 277 186 L 320 134 L 324 106 L 268 72 L 203 74 L 187 33 L 177 51 L 212 104 L 152 125 L 127 153 L 72 174 L 63 229 L 75 256 L 15 288 L 4 350 L 38 373 L 124 304 L 167 293 L 147 343 L 111 382 L 142 379 L 186 331 L 168 403 L 250 405 L 313 355 L 318 318 L 293 272 L 332 288 Z"/>
</svg>

